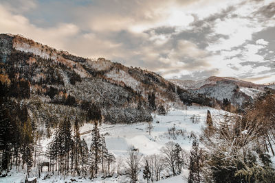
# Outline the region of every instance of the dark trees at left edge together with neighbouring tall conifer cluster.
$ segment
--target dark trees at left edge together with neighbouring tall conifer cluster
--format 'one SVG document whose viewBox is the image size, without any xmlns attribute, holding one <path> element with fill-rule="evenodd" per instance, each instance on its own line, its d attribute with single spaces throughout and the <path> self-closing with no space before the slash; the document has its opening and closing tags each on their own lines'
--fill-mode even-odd
<svg viewBox="0 0 275 183">
<path fill-rule="evenodd" d="M 98 123 L 102 119 L 98 111 L 92 110 L 89 114 L 89 120 L 94 121 L 90 148 L 87 147 L 86 141 L 80 138 L 79 123 L 76 118 L 74 127 L 69 119 L 58 123 L 54 138 L 48 145 L 47 151 L 43 152 L 41 135 L 36 130 L 36 125 L 30 121 L 27 108 L 18 106 L 11 110 L 6 106 L 15 106 L 15 104 L 11 101 L 5 103 L 2 101 L 0 108 L 1 177 L 8 175 L 11 169 L 16 171 L 25 169 L 28 177 L 34 167 L 39 171 L 37 176 L 40 176 L 43 163 L 57 175 L 78 175 L 89 178 L 96 178 L 98 173 L 104 177 L 112 175 L 110 166 L 115 162 L 115 157 L 109 153 L 104 136 L 100 136 Z M 49 160 L 41 162 L 41 154 L 45 154 Z"/>
</svg>

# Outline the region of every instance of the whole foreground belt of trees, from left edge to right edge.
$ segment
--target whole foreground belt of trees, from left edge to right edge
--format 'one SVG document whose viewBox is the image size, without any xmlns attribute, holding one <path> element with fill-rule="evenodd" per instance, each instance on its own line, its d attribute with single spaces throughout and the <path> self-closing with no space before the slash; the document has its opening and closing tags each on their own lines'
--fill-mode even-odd
<svg viewBox="0 0 275 183">
<path fill-rule="evenodd" d="M 59 121 L 41 162 L 41 134 L 28 119 L 26 108 L 14 111 L 5 108 L 11 101 L 1 100 L 1 177 L 11 169 L 25 171 L 26 177 L 36 169 L 40 176 L 43 166 L 49 174 L 78 176 L 93 180 L 100 176 L 127 175 L 131 182 L 155 182 L 179 175 L 188 169 L 188 182 L 272 182 L 275 139 L 275 93 L 265 90 L 243 110 L 226 113 L 219 121 L 207 112 L 206 127 L 200 135 L 193 134 L 191 151 L 182 149 L 173 141 L 164 145 L 161 153 L 144 156 L 134 146 L 129 147 L 124 160 L 116 160 L 108 151 L 104 134 L 100 134 L 102 116 L 93 110 L 89 115 L 91 141 L 80 137 L 80 124 L 65 119 Z M 5 105 L 4 105 L 5 104 Z M 18 106 L 20 109 L 20 106 Z M 196 120 L 193 119 L 193 123 Z M 151 127 L 148 125 L 148 128 Z M 175 137 L 175 129 L 168 129 Z M 180 132 L 183 133 L 183 132 Z M 87 144 L 90 144 L 89 147 Z M 166 172 L 169 172 L 168 174 Z M 142 179 L 140 180 L 140 174 Z"/>
</svg>

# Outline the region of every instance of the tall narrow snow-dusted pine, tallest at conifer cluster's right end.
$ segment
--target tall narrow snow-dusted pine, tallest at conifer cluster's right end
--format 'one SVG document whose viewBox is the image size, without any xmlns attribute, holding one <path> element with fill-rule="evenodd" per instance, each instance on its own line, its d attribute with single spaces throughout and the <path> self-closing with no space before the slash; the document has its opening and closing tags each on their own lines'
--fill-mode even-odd
<svg viewBox="0 0 275 183">
<path fill-rule="evenodd" d="M 101 154 L 101 146 L 102 142 L 100 141 L 100 133 L 98 130 L 98 121 L 94 122 L 94 128 L 91 131 L 91 160 L 94 162 L 91 167 L 91 171 L 93 171 L 94 176 L 98 174 L 98 164 L 100 164 L 100 154 Z M 94 178 L 94 176 L 92 176 Z"/>
</svg>

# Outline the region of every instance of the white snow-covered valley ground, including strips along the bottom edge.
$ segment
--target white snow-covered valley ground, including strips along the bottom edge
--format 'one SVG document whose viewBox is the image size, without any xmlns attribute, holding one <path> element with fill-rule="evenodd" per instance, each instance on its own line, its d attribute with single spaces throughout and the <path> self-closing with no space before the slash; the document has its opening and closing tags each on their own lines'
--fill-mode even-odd
<svg viewBox="0 0 275 183">
<path fill-rule="evenodd" d="M 190 106 L 187 110 L 173 110 L 171 109 L 166 116 L 153 115 L 153 129 L 151 135 L 148 134 L 148 123 L 133 123 L 133 124 L 102 124 L 100 126 L 100 134 L 105 135 L 107 148 L 113 154 L 117 162 L 123 159 L 126 155 L 127 149 L 134 145 L 140 150 L 144 156 L 151 154 L 159 154 L 160 149 L 168 141 L 179 143 L 181 148 L 190 151 L 192 146 L 192 138 L 190 134 L 199 135 L 201 127 L 206 125 L 207 110 L 210 110 L 213 121 L 219 119 L 220 114 L 224 113 L 221 110 L 216 110 L 208 107 Z M 192 121 L 195 117 L 195 123 Z M 198 119 L 198 120 L 197 120 Z M 175 138 L 168 136 L 168 128 L 175 127 L 176 130 L 183 130 L 184 135 L 175 136 Z M 81 138 L 85 138 L 88 147 L 91 143 L 91 133 L 93 124 L 85 124 L 80 128 Z M 50 139 L 45 139 L 42 142 L 43 147 L 47 148 L 47 143 Z M 35 173 L 32 173 L 35 176 Z M 41 176 L 43 177 L 43 175 Z M 188 177 L 188 170 L 184 170 L 181 175 L 161 180 L 159 182 L 186 182 Z M 24 173 L 13 173 L 10 177 L 0 178 L 0 182 L 23 182 L 25 178 Z M 39 179 L 39 182 L 72 182 L 72 177 L 63 178 L 61 176 L 53 176 L 47 180 Z M 140 182 L 143 182 L 142 173 L 140 173 Z M 72 178 L 78 180 L 78 178 Z M 81 179 L 81 182 L 91 182 L 91 180 Z M 95 182 L 127 182 L 126 175 L 118 176 L 117 178 L 107 178 L 105 180 L 94 180 Z"/>
</svg>

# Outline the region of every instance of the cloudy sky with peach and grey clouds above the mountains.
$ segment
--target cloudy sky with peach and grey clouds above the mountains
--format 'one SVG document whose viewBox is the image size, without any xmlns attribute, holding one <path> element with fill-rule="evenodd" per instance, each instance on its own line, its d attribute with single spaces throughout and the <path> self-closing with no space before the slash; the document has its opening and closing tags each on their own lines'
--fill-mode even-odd
<svg viewBox="0 0 275 183">
<path fill-rule="evenodd" d="M 0 33 L 166 78 L 275 82 L 274 0 L 0 0 Z"/>
</svg>

